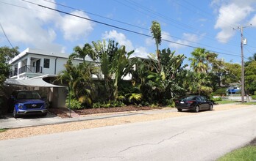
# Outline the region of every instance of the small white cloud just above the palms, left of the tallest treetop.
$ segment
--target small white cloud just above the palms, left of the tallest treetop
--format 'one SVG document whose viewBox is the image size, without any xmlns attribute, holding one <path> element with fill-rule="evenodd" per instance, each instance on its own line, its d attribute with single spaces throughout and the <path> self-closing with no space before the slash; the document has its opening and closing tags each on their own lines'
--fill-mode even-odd
<svg viewBox="0 0 256 161">
<path fill-rule="evenodd" d="M 105 33 L 102 34 L 102 39 L 115 40 L 115 42 L 118 42 L 118 45 L 124 45 L 127 51 L 134 50 L 132 42 L 127 40 L 127 37 L 123 33 L 118 33 L 115 30 L 105 31 Z"/>
</svg>

